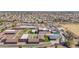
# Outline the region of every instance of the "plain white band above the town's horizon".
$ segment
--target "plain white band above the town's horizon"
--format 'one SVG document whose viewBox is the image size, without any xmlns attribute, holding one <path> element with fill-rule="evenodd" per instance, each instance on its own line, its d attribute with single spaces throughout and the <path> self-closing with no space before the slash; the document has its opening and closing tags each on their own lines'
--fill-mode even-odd
<svg viewBox="0 0 79 59">
<path fill-rule="evenodd" d="M 0 0 L 0 11 L 79 11 L 78 0 Z"/>
</svg>

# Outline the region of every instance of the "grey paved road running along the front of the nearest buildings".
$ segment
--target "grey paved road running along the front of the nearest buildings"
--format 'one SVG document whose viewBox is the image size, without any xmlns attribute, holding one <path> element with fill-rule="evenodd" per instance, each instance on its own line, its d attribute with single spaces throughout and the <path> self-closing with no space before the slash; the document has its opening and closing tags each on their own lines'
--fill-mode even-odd
<svg viewBox="0 0 79 59">
<path fill-rule="evenodd" d="M 27 48 L 31 48 L 31 47 L 47 47 L 47 46 L 51 46 L 51 44 L 25 44 L 25 45 L 22 45 L 22 47 L 27 47 Z M 18 48 L 19 45 L 17 44 L 3 44 L 3 45 L 0 45 L 0 48 L 11 48 L 11 47 L 16 47 Z"/>
</svg>

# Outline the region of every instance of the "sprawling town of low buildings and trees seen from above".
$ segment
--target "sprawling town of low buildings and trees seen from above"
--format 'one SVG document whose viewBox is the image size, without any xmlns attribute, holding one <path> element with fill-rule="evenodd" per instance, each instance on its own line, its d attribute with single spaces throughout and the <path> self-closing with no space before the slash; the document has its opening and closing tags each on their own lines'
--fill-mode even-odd
<svg viewBox="0 0 79 59">
<path fill-rule="evenodd" d="M 79 12 L 0 11 L 0 48 L 78 48 L 72 25 Z"/>
</svg>

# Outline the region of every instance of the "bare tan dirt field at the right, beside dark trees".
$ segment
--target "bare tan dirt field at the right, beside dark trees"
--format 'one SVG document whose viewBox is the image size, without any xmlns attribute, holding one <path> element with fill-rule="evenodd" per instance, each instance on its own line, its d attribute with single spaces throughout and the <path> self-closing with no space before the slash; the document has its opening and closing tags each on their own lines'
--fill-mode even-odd
<svg viewBox="0 0 79 59">
<path fill-rule="evenodd" d="M 79 24 L 61 24 L 64 28 L 67 30 L 70 30 L 71 32 L 75 33 L 79 36 Z"/>
</svg>

